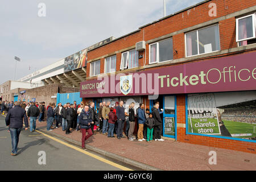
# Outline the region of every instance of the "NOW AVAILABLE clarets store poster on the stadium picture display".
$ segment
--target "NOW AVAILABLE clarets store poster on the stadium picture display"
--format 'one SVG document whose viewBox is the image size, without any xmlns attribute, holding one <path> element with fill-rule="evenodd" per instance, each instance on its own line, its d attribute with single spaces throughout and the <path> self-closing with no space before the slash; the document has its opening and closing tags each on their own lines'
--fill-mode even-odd
<svg viewBox="0 0 256 182">
<path fill-rule="evenodd" d="M 214 95 L 188 96 L 188 125 L 190 133 L 220 135 Z"/>
</svg>

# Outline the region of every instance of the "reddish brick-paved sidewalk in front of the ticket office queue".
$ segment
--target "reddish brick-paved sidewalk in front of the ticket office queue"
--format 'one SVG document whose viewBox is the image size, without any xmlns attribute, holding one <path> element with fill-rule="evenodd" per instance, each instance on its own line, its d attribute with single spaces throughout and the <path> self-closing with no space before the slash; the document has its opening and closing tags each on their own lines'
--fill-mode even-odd
<svg viewBox="0 0 256 182">
<path fill-rule="evenodd" d="M 40 131 L 81 146 L 80 131 L 73 130 L 69 135 L 61 127 L 46 131 L 46 122 L 36 122 Z M 97 133 L 86 141 L 86 148 L 146 170 L 256 170 L 255 154 L 173 140 L 147 143 Z M 216 151 L 217 165 L 209 164 L 209 151 Z"/>
</svg>

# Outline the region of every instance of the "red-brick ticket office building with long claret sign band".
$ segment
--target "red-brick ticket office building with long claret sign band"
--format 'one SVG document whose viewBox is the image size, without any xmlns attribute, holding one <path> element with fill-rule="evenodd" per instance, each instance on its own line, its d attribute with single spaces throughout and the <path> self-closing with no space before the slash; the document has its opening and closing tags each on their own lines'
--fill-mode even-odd
<svg viewBox="0 0 256 182">
<path fill-rule="evenodd" d="M 199 10 L 211 2 L 218 14 L 209 18 Z M 150 111 L 159 101 L 164 137 L 255 152 L 256 7 L 230 1 L 221 11 L 221 3 L 204 1 L 92 49 L 80 97 Z"/>
</svg>

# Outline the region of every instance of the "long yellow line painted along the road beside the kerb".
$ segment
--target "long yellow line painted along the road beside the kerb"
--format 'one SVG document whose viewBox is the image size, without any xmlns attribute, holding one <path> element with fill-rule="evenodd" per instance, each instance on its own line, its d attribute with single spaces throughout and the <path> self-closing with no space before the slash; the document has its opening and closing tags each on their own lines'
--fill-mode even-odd
<svg viewBox="0 0 256 182">
<path fill-rule="evenodd" d="M 41 133 L 41 134 L 43 134 L 44 136 L 46 136 L 46 137 L 48 137 L 48 138 L 51 138 L 52 140 L 55 140 L 56 142 L 59 142 L 59 143 L 61 143 L 61 144 L 64 144 L 64 145 L 67 146 L 67 147 L 70 147 L 70 148 L 73 148 L 73 149 L 75 149 L 75 150 L 77 150 L 77 151 L 79 151 L 79 152 L 82 152 L 83 154 L 89 155 L 89 156 L 91 156 L 92 158 L 95 158 L 95 159 L 97 159 L 97 160 L 100 160 L 101 162 L 104 162 L 104 163 L 107 163 L 107 164 L 109 164 L 109 165 L 111 165 L 111 166 L 114 166 L 114 167 L 116 167 L 116 168 L 122 169 L 123 171 L 133 171 L 133 169 L 130 169 L 130 168 L 121 166 L 121 165 L 119 165 L 119 164 L 113 163 L 113 162 L 111 162 L 110 160 L 101 158 L 100 156 L 91 154 L 90 152 L 86 152 L 86 151 L 82 150 L 81 148 L 72 146 L 71 144 L 65 143 L 65 142 L 63 142 L 63 141 L 61 141 L 61 140 L 59 140 L 59 139 L 56 139 L 56 138 L 51 137 L 51 136 L 49 136 L 49 135 L 47 135 L 47 134 L 44 134 L 44 133 L 42 133 L 41 131 L 36 131 L 36 132 Z"/>
</svg>

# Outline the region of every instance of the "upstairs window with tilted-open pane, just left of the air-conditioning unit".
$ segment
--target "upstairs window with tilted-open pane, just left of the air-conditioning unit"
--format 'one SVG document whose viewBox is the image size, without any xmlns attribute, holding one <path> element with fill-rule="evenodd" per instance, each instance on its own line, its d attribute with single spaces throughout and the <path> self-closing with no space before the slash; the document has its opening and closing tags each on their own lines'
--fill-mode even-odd
<svg viewBox="0 0 256 182">
<path fill-rule="evenodd" d="M 138 67 L 139 59 L 138 59 L 138 51 L 135 49 L 122 53 L 122 60 L 120 69 L 128 69 Z"/>
</svg>

